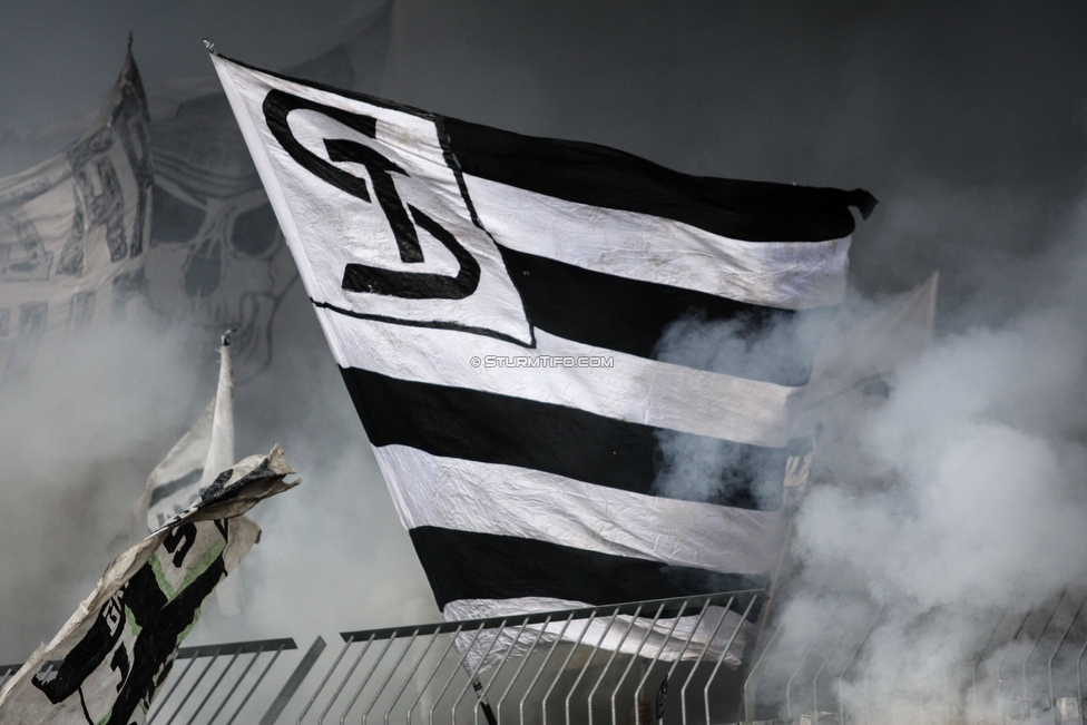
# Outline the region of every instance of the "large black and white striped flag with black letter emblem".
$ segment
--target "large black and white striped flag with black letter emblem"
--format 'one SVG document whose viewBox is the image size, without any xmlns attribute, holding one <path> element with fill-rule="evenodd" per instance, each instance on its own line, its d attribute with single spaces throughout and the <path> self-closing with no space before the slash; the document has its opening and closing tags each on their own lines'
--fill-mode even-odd
<svg viewBox="0 0 1087 725">
<path fill-rule="evenodd" d="M 765 585 L 816 342 L 796 321 L 841 300 L 871 195 L 213 60 L 447 618 Z M 662 354 L 698 324 L 744 354 Z M 686 450 L 721 463 L 702 500 L 662 476 Z"/>
</svg>

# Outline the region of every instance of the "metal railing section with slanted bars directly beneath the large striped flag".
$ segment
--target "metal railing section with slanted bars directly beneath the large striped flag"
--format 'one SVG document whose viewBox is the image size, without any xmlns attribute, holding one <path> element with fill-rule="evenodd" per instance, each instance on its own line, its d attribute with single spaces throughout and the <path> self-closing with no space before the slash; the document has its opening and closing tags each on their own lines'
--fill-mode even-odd
<svg viewBox="0 0 1087 725">
<path fill-rule="evenodd" d="M 718 674 L 763 600 L 747 591 L 343 633 L 292 716 L 626 725 L 668 712 L 714 722 Z"/>
</svg>

